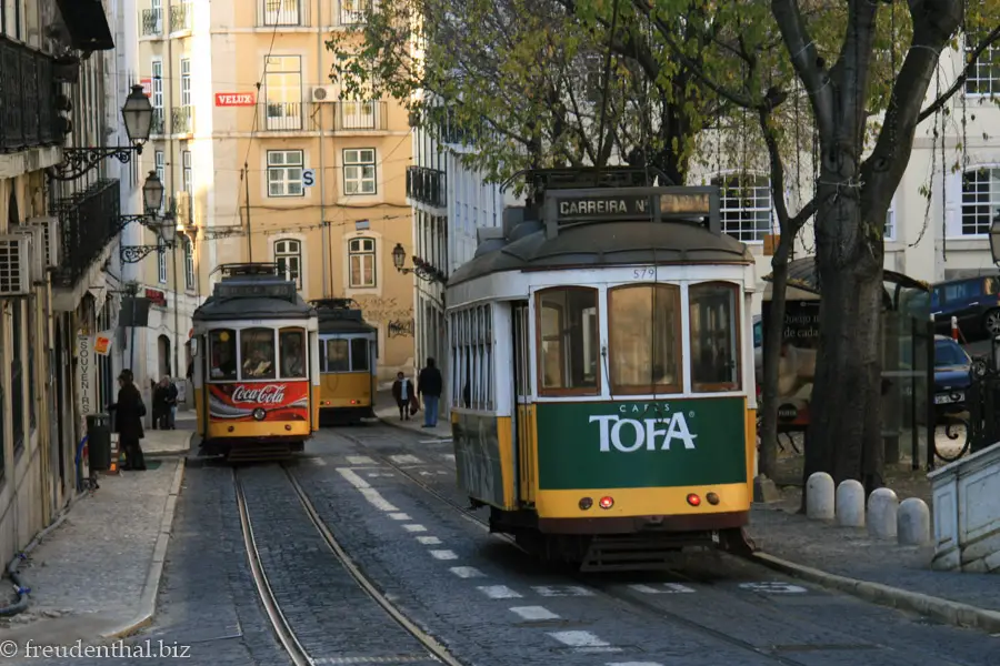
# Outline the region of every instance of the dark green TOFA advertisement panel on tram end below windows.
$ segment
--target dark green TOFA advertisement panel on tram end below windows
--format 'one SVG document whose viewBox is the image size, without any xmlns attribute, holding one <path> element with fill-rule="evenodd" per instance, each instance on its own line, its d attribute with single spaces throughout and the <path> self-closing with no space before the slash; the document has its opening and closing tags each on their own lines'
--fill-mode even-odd
<svg viewBox="0 0 1000 666">
<path fill-rule="evenodd" d="M 538 403 L 543 491 L 746 483 L 742 397 Z"/>
</svg>

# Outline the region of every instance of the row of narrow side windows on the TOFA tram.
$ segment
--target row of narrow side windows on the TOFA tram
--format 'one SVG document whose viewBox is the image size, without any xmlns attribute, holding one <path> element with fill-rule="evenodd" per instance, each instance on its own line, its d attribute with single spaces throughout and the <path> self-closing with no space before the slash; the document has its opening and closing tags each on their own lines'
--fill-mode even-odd
<svg viewBox="0 0 1000 666">
<path fill-rule="evenodd" d="M 456 407 L 493 408 L 492 306 L 451 314 L 451 400 Z"/>
</svg>

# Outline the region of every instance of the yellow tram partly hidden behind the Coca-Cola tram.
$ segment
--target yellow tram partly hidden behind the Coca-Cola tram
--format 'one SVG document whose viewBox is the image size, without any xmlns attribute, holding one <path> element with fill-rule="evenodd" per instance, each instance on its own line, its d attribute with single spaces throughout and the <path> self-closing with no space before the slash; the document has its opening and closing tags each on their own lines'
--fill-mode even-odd
<svg viewBox="0 0 1000 666">
<path fill-rule="evenodd" d="M 374 418 L 378 329 L 351 299 L 311 301 L 319 316 L 320 420 L 357 423 Z"/>
</svg>

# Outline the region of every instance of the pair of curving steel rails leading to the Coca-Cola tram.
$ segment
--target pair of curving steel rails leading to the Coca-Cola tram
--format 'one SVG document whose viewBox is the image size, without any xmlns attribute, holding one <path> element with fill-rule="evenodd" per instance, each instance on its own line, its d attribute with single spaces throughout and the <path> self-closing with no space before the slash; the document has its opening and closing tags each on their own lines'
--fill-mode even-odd
<svg viewBox="0 0 1000 666">
<path fill-rule="evenodd" d="M 409 636 L 414 638 L 423 647 L 423 649 L 427 650 L 426 660 L 447 664 L 448 666 L 466 666 L 466 664 L 457 659 L 448 650 L 448 648 L 439 643 L 433 636 L 431 636 L 419 626 L 417 626 L 417 624 L 414 624 L 412 620 L 410 620 L 396 604 L 393 604 L 384 594 L 382 594 L 374 582 L 370 577 L 368 577 L 364 574 L 363 569 L 359 567 L 358 564 L 350 557 L 350 555 L 333 535 L 333 532 L 329 528 L 322 517 L 320 517 L 319 512 L 316 509 L 316 506 L 312 504 L 312 501 L 309 498 L 306 490 L 294 477 L 291 470 L 284 464 L 281 464 L 281 471 L 291 485 L 292 490 L 294 491 L 296 496 L 303 512 L 306 513 L 306 516 L 309 518 L 310 523 L 329 548 L 337 564 L 339 564 L 340 567 L 350 575 L 358 587 L 377 606 L 379 606 L 399 627 L 401 627 Z M 236 487 L 237 505 L 240 514 L 243 546 L 247 552 L 248 562 L 250 564 L 253 584 L 257 588 L 258 597 L 260 598 L 260 602 L 264 607 L 268 620 L 270 622 L 279 643 L 281 643 L 281 646 L 291 658 L 292 664 L 294 666 L 313 666 L 314 664 L 322 663 L 356 663 L 356 659 L 352 658 L 340 658 L 331 662 L 329 658 L 311 655 L 302 645 L 302 642 L 299 639 L 299 637 L 296 635 L 293 626 L 294 622 L 289 617 L 289 614 L 287 614 L 281 608 L 281 605 L 268 578 L 260 551 L 258 549 L 257 538 L 254 537 L 253 532 L 253 519 L 248 506 L 246 491 L 240 477 L 240 472 L 237 468 L 233 468 L 232 474 L 233 484 Z M 357 663 L 373 662 L 369 658 L 360 658 L 357 659 Z"/>
</svg>

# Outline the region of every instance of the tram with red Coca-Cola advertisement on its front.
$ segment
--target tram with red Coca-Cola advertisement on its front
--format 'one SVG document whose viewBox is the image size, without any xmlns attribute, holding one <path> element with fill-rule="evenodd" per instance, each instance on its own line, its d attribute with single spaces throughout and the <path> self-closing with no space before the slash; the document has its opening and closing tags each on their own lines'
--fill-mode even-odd
<svg viewBox="0 0 1000 666">
<path fill-rule="evenodd" d="M 301 452 L 319 428 L 316 307 L 278 264 L 224 264 L 194 311 L 194 404 L 201 455 Z"/>
</svg>

